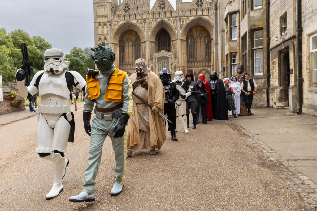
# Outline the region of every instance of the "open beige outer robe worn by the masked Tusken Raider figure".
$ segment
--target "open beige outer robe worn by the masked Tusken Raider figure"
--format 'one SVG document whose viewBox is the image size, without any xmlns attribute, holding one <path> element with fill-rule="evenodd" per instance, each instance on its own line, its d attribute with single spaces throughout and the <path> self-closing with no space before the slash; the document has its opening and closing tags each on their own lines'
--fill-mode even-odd
<svg viewBox="0 0 317 211">
<path fill-rule="evenodd" d="M 135 73 L 130 76 L 130 79 L 132 83 L 134 83 Z M 164 92 L 163 85 L 159 77 L 155 73 L 153 73 L 151 70 L 149 70 L 148 72 L 147 82 L 148 82 L 148 103 L 151 106 L 159 107 L 160 113 L 163 114 L 164 99 L 165 99 L 165 92 Z M 136 96 L 133 96 L 132 115 L 130 116 L 129 126 L 128 126 L 127 148 L 131 148 L 132 146 L 136 144 L 140 144 L 141 137 L 139 134 L 139 131 L 140 131 L 139 130 L 139 115 L 138 115 L 136 101 L 137 101 Z M 149 116 L 149 131 L 150 131 L 151 147 L 161 149 L 166 139 L 165 122 L 162 120 L 162 117 L 160 115 L 153 114 L 153 112 L 151 111 L 149 107 L 148 107 L 148 114 L 149 114 L 148 116 Z M 140 120 L 140 121 L 143 121 L 143 120 Z M 140 125 L 143 125 L 143 124 L 140 124 Z M 141 136 L 143 135 L 141 134 Z"/>
</svg>

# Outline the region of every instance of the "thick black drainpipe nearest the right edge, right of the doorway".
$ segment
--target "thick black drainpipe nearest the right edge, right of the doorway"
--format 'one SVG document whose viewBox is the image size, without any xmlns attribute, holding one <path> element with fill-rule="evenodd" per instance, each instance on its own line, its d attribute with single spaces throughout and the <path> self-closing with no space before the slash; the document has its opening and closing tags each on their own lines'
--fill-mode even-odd
<svg viewBox="0 0 317 211">
<path fill-rule="evenodd" d="M 301 0 L 296 1 L 296 41 L 297 41 L 297 91 L 298 91 L 298 108 L 297 114 L 302 114 L 303 105 L 303 70 L 302 70 L 302 45 L 301 35 L 303 29 L 301 28 Z"/>
</svg>

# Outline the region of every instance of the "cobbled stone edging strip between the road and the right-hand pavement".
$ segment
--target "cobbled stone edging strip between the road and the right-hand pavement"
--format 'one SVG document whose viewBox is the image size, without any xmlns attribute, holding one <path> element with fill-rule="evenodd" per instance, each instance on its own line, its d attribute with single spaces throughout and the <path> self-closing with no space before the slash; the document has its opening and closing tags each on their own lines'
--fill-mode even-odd
<svg viewBox="0 0 317 211">
<path fill-rule="evenodd" d="M 275 169 L 269 165 L 275 173 L 281 177 L 296 193 L 301 195 L 313 209 L 317 209 L 317 184 L 306 177 L 301 171 L 294 168 L 285 158 L 279 155 L 269 146 L 251 135 L 246 129 L 232 120 L 225 120 L 226 124 L 241 134 L 244 142 L 250 146 L 263 160 L 275 163 Z M 236 128 L 234 128 L 236 127 Z M 283 169 L 283 167 L 287 168 Z"/>
</svg>

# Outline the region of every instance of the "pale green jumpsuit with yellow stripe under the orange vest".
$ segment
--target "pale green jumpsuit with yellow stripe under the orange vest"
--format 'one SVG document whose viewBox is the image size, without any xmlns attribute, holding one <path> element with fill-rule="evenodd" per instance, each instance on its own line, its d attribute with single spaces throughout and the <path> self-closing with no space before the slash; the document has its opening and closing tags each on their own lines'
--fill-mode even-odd
<svg viewBox="0 0 317 211">
<path fill-rule="evenodd" d="M 113 68 L 114 71 L 114 68 Z M 100 109 L 107 109 L 114 107 L 120 103 L 122 103 L 122 113 L 126 113 L 127 115 L 132 114 L 132 83 L 128 76 L 125 77 L 122 83 L 122 99 L 123 102 L 110 102 L 105 101 L 105 93 L 107 90 L 107 83 L 110 80 L 109 76 L 112 75 L 113 71 L 108 71 L 105 74 L 97 74 L 95 78 L 99 80 L 100 83 L 100 95 L 95 98 L 92 102 L 90 100 L 87 85 L 86 85 L 86 96 L 85 96 L 85 104 L 83 105 L 83 112 L 92 112 L 94 108 L 94 103 Z M 119 109 L 120 110 L 120 109 Z M 118 111 L 118 110 L 116 110 Z M 116 111 L 110 113 L 102 113 L 102 114 L 112 114 Z M 126 130 L 124 135 L 121 138 L 115 139 L 113 138 L 113 129 L 118 124 L 120 118 L 113 118 L 112 120 L 99 119 L 96 116 L 93 117 L 92 127 L 91 127 L 91 136 L 90 136 L 90 150 L 89 150 L 89 158 L 87 160 L 88 166 L 85 171 L 85 183 L 82 185 L 83 191 L 94 194 L 95 191 L 95 179 L 98 173 L 102 146 L 107 136 L 111 138 L 112 147 L 114 151 L 114 158 L 116 160 L 115 167 L 115 183 L 122 184 L 125 180 L 126 173 L 126 143 L 127 136 Z"/>
</svg>

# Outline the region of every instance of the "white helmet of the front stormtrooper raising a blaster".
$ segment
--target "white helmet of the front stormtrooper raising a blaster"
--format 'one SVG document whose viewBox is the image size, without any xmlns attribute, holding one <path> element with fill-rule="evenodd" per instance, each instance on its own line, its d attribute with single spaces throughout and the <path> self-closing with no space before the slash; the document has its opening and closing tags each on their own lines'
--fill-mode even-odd
<svg viewBox="0 0 317 211">
<path fill-rule="evenodd" d="M 68 64 L 61 49 L 50 48 L 44 52 L 44 71 L 47 74 L 60 74 Z"/>
</svg>

